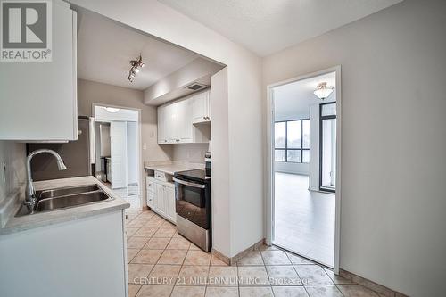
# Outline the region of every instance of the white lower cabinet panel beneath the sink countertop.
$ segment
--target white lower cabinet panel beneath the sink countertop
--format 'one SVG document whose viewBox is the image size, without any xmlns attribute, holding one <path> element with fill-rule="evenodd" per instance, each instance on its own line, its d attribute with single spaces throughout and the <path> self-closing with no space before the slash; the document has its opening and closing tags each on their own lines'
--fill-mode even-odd
<svg viewBox="0 0 446 297">
<path fill-rule="evenodd" d="M 1 235 L 0 296 L 126 296 L 124 218 L 116 210 Z"/>
</svg>

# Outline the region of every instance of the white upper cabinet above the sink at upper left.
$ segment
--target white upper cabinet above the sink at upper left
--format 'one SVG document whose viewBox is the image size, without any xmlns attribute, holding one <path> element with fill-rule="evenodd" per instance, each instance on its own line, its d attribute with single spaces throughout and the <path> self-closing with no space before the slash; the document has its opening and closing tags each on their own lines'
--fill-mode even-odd
<svg viewBox="0 0 446 297">
<path fill-rule="evenodd" d="M 51 4 L 52 61 L 0 61 L 0 139 L 78 138 L 76 12 L 59 0 Z"/>
</svg>

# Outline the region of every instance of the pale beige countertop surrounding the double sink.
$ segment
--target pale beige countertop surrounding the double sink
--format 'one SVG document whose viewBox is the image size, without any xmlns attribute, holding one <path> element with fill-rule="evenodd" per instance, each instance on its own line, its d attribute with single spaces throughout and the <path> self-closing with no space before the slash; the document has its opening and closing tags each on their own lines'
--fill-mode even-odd
<svg viewBox="0 0 446 297">
<path fill-rule="evenodd" d="M 45 211 L 22 217 L 14 217 L 15 213 L 18 211 L 18 208 L 16 208 L 13 210 L 10 219 L 6 221 L 4 227 L 0 228 L 0 235 L 12 234 L 37 227 L 50 226 L 115 210 L 123 210 L 130 206 L 128 202 L 121 199 L 120 196 L 114 194 L 111 189 L 103 185 L 103 183 L 101 183 L 98 179 L 91 176 L 38 181 L 34 183 L 34 186 L 36 191 L 39 191 L 65 186 L 86 186 L 92 184 L 96 184 L 101 187 L 103 192 L 108 194 L 112 200 L 95 202 L 62 210 Z M 20 203 L 17 203 L 17 205 L 20 205 Z"/>
</svg>

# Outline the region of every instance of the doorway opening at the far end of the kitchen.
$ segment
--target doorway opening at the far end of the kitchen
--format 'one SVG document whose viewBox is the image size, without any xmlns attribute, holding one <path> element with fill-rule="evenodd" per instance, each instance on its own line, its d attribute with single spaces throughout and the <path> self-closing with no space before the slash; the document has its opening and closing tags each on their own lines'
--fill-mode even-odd
<svg viewBox="0 0 446 297">
<path fill-rule="evenodd" d="M 95 177 L 141 210 L 140 111 L 94 104 Z"/>
</svg>

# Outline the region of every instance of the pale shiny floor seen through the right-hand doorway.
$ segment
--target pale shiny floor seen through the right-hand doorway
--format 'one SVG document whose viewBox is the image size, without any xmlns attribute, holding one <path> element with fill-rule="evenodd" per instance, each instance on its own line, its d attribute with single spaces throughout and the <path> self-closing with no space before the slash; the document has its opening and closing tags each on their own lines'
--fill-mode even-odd
<svg viewBox="0 0 446 297">
<path fill-rule="evenodd" d="M 335 194 L 309 191 L 309 177 L 276 172 L 274 243 L 333 267 Z"/>
</svg>

